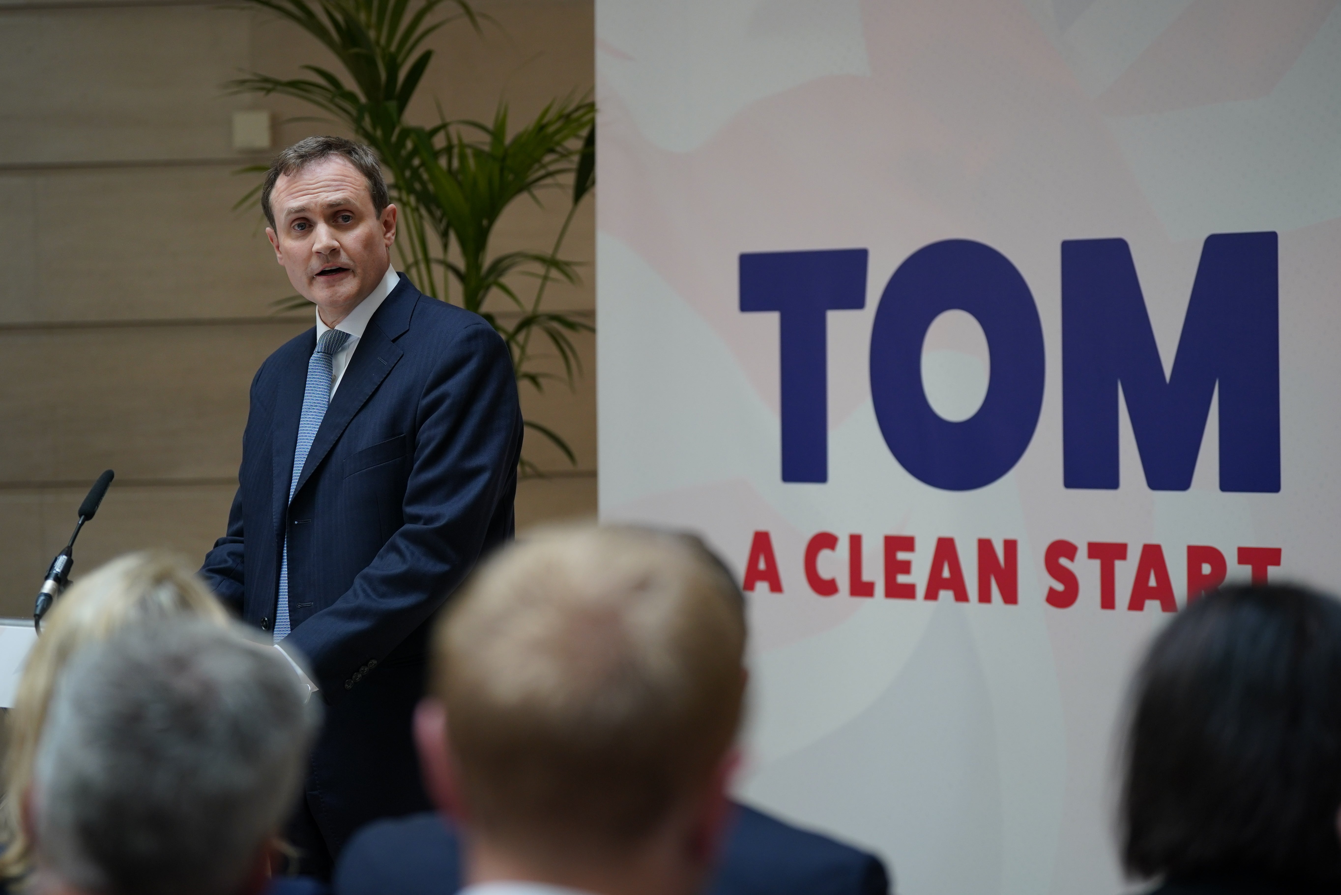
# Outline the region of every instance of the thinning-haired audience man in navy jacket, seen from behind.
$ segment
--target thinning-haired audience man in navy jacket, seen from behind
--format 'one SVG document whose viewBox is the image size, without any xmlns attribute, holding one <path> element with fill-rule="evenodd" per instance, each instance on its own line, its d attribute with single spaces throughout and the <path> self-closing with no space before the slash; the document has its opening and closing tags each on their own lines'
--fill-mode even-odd
<svg viewBox="0 0 1341 895">
<path fill-rule="evenodd" d="M 433 637 L 434 695 L 416 718 L 420 755 L 444 816 L 421 813 L 361 831 L 341 856 L 335 895 L 455 895 L 467 879 L 548 882 L 610 895 L 675 890 L 684 871 L 677 861 L 693 860 L 705 840 L 711 895 L 888 894 L 874 855 L 739 804 L 727 808 L 724 823 L 700 820 L 701 827 L 676 831 L 668 821 L 683 837 L 669 837 L 664 851 L 676 857 L 668 865 L 657 863 L 654 847 L 630 845 L 633 814 L 620 814 L 625 839 L 601 839 L 599 806 L 668 801 L 649 781 L 666 777 L 670 757 L 692 754 L 703 729 L 711 729 L 711 711 L 679 725 L 658 714 L 670 694 L 696 707 L 696 691 L 684 683 L 687 667 L 712 667 L 713 659 L 728 666 L 711 686 L 699 684 L 704 700 L 731 694 L 744 678 L 743 594 L 696 538 L 630 529 L 547 533 L 500 554 L 461 600 Z M 740 639 L 723 647 L 721 629 Z M 599 649 L 593 631 L 599 631 Z M 640 739 L 646 730 L 660 731 L 656 742 L 670 747 L 662 753 Z M 721 784 L 713 777 L 703 789 Z M 701 813 L 696 805 L 691 798 L 669 816 L 684 823 Z M 448 814 L 464 816 L 473 828 L 467 843 Z M 664 835 L 657 823 L 649 825 Z M 590 847 L 577 835 L 583 827 L 601 844 L 594 856 L 583 855 Z M 720 860 L 712 860 L 723 832 Z M 649 839 L 654 845 L 656 836 Z M 464 865 L 463 852 L 473 867 Z M 593 870 L 611 865 L 624 872 Z M 697 888 L 701 876 L 691 878 Z"/>
</svg>

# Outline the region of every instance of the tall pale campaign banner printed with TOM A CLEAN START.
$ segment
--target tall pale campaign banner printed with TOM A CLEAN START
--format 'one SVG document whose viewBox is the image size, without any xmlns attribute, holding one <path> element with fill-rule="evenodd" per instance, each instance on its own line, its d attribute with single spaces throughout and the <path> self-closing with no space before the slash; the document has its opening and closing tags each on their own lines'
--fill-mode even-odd
<svg viewBox="0 0 1341 895">
<path fill-rule="evenodd" d="M 1334 0 L 597 0 L 599 503 L 740 574 L 740 797 L 1118 892 L 1128 682 L 1341 586 Z"/>
</svg>

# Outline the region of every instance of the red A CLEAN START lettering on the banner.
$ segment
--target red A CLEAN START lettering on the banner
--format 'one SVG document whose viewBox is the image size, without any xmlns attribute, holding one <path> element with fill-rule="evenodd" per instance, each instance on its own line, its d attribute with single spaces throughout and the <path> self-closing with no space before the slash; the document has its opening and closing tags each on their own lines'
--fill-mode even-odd
<svg viewBox="0 0 1341 895">
<path fill-rule="evenodd" d="M 846 593 L 849 597 L 886 600 L 936 601 L 941 594 L 956 602 L 992 602 L 994 594 L 1006 605 L 1019 602 L 1019 542 L 1011 538 L 968 541 L 964 550 L 976 558 L 976 580 L 964 576 L 960 543 L 955 538 L 936 538 L 931 565 L 925 578 L 913 580 L 912 557 L 917 539 L 911 534 L 886 534 L 865 541 L 860 534 L 849 534 L 846 545 L 830 531 L 819 531 L 806 545 L 803 560 L 806 584 L 821 597 Z M 869 551 L 869 553 L 868 553 Z M 1187 589 L 1195 597 L 1218 586 L 1228 574 L 1228 560 L 1218 547 L 1188 545 Z M 842 569 L 841 553 L 846 553 L 846 574 L 831 574 Z M 826 556 L 835 554 L 835 556 Z M 1254 584 L 1265 584 L 1267 570 L 1281 565 L 1281 547 L 1239 547 L 1238 566 L 1247 569 Z M 838 560 L 835 564 L 834 560 Z M 874 561 L 872 561 L 874 560 Z M 1081 597 L 1077 562 L 1094 562 L 1098 572 L 1098 604 L 1102 609 L 1117 609 L 1117 564 L 1136 562 L 1132 588 L 1125 594 L 1126 609 L 1141 612 L 1148 604 L 1157 604 L 1164 612 L 1177 612 L 1173 580 L 1159 543 L 1128 545 L 1110 541 L 1089 541 L 1082 546 L 1059 539 L 1043 551 L 1043 569 L 1051 578 L 1043 600 L 1057 609 L 1075 605 Z M 826 574 L 821 569 L 829 570 Z M 744 589 L 760 585 L 771 593 L 782 593 L 782 573 L 768 531 L 755 531 L 746 560 Z M 971 588 L 971 585 L 976 585 Z"/>
</svg>

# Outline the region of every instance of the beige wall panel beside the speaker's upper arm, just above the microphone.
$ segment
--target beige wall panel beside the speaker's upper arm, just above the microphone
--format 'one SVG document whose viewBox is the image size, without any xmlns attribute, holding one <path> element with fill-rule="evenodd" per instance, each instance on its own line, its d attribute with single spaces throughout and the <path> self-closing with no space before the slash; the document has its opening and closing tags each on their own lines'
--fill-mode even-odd
<svg viewBox="0 0 1341 895">
<path fill-rule="evenodd" d="M 0 333 L 0 482 L 236 476 L 251 378 L 306 326 Z"/>
</svg>

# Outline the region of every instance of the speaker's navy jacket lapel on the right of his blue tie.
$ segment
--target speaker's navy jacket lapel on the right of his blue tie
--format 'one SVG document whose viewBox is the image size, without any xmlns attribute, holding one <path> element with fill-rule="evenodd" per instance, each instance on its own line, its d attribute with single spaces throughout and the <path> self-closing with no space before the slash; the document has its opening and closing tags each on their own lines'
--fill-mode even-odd
<svg viewBox="0 0 1341 895">
<path fill-rule="evenodd" d="M 404 352 L 396 345 L 394 339 L 409 327 L 410 313 L 417 299 L 418 290 L 410 284 L 409 279 L 401 276 L 400 286 L 392 290 L 392 294 L 386 297 L 382 306 L 373 314 L 373 319 L 367 322 L 363 337 L 358 339 L 358 346 L 354 349 L 354 357 L 350 358 L 349 366 L 345 369 L 345 376 L 341 377 L 339 388 L 335 389 L 335 397 L 326 409 L 320 428 L 316 429 L 312 448 L 307 452 L 302 476 L 298 479 L 298 488 L 294 490 L 295 495 L 312 478 L 312 471 L 330 454 L 331 447 L 343 435 L 349 421 L 354 419 L 354 415 L 373 396 L 373 392 L 377 390 L 377 386 L 392 372 L 396 362 L 401 360 Z M 302 394 L 299 394 L 298 400 L 299 413 L 302 413 Z M 290 474 L 292 474 L 294 468 L 292 445 L 298 437 L 296 432 L 295 424 L 288 452 L 287 468 Z"/>
</svg>

